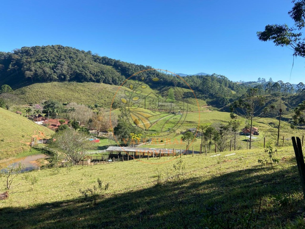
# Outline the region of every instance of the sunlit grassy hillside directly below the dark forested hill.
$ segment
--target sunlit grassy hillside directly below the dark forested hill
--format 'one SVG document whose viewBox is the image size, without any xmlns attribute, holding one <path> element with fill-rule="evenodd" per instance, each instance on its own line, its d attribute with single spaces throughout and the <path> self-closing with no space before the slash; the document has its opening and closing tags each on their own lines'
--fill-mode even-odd
<svg viewBox="0 0 305 229">
<path fill-rule="evenodd" d="M 182 92 L 182 96 L 178 96 L 175 102 L 176 109 L 198 110 L 197 101 L 191 90 L 178 89 Z M 160 96 L 158 90 L 151 89 L 149 85 L 134 80 L 126 81 L 122 86 L 92 82 L 35 83 L 16 89 L 14 93 L 25 103 L 39 103 L 42 100 L 56 99 L 62 103 L 77 102 L 87 105 L 96 103 L 104 108 L 110 107 L 113 97 L 119 101 L 123 99 L 127 104 L 132 102 L 139 107 L 149 107 L 149 100 L 157 101 L 157 97 Z M 144 104 L 145 100 L 146 104 Z M 165 99 L 161 98 L 160 102 L 165 102 Z M 203 108 L 206 105 L 204 100 L 198 99 L 198 104 L 201 110 L 206 109 Z"/>
</svg>

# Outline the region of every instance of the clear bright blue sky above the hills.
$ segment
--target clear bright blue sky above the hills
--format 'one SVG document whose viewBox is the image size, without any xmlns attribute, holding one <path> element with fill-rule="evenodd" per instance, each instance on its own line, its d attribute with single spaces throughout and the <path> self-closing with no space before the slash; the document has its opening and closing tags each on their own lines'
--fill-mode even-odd
<svg viewBox="0 0 305 229">
<path fill-rule="evenodd" d="M 291 0 L 2 1 L 0 51 L 64 45 L 175 73 L 233 81 L 305 82 L 305 61 L 260 42 L 267 24 L 293 25 Z"/>
</svg>

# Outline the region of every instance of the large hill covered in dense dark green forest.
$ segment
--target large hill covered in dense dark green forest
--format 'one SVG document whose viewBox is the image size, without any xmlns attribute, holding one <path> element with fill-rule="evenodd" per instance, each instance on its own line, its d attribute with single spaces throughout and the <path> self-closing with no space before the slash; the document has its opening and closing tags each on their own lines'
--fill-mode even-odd
<svg viewBox="0 0 305 229">
<path fill-rule="evenodd" d="M 33 46 L 0 52 L 0 85 L 13 89 L 37 82 L 77 81 L 120 85 L 126 78 L 153 82 L 151 87 L 188 87 L 174 75 L 62 45 Z M 156 80 L 157 79 L 157 80 Z M 194 75 L 183 78 L 189 86 L 212 100 L 226 103 L 245 92 L 246 87 L 222 75 Z M 218 102 L 217 102 L 218 103 Z"/>
</svg>

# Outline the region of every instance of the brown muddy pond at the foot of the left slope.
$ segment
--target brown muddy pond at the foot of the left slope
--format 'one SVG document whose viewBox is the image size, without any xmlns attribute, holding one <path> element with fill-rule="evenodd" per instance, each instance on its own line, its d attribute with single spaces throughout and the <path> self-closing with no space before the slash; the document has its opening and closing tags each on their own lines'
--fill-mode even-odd
<svg viewBox="0 0 305 229">
<path fill-rule="evenodd" d="M 47 155 L 45 154 L 37 154 L 37 155 L 31 155 L 31 156 L 27 156 L 27 157 L 22 157 L 22 158 L 16 158 L 16 159 L 13 159 L 7 163 L 0 163 L 0 168 L 2 167 L 6 167 L 7 164 L 14 164 L 14 165 L 18 165 L 19 162 L 21 162 L 22 166 L 23 166 L 23 169 L 21 170 L 21 172 L 26 172 L 26 171 L 30 171 L 30 170 L 33 170 L 33 169 L 38 169 L 38 164 L 36 162 L 37 159 L 40 159 L 40 158 L 46 158 Z M 0 170 L 0 172 L 2 172 L 2 170 Z"/>
</svg>

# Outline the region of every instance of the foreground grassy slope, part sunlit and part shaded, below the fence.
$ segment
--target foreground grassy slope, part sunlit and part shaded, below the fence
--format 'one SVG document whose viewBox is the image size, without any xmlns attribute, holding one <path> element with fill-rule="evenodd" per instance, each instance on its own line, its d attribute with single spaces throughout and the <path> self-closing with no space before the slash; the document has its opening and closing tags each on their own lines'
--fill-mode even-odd
<svg viewBox="0 0 305 229">
<path fill-rule="evenodd" d="M 240 220 L 252 210 L 258 211 L 260 196 L 257 228 L 289 225 L 300 215 L 296 212 L 304 210 L 292 147 L 278 150 L 280 164 L 275 165 L 275 173 L 270 166 L 257 163 L 266 156 L 262 149 L 235 153 L 228 157 L 182 156 L 184 175 L 161 186 L 156 185 L 157 175 L 164 182 L 167 175 L 177 174 L 173 165 L 179 158 L 30 172 L 37 184 L 27 182 L 22 174 L 14 181 L 9 198 L 0 201 L 1 225 L 27 229 L 216 228 L 213 224 L 222 224 L 222 219 L 226 226 L 230 215 L 231 228 L 242 228 Z M 109 189 L 93 206 L 78 190 L 92 187 L 97 178 L 109 183 Z M 5 191 L 4 182 L 0 178 L 0 192 Z M 289 200 L 277 201 L 281 197 Z M 304 228 L 304 221 L 303 227 L 294 228 Z"/>
</svg>

